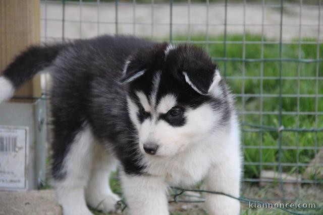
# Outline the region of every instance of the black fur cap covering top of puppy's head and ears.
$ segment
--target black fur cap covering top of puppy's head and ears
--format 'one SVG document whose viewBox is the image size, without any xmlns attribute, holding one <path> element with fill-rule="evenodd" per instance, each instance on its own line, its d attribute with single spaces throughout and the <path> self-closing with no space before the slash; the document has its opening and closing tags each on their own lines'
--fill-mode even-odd
<svg viewBox="0 0 323 215">
<path fill-rule="evenodd" d="M 156 106 L 161 98 L 167 94 L 176 96 L 178 105 L 183 107 L 196 108 L 204 103 L 210 103 L 214 108 L 221 108 L 227 101 L 225 82 L 220 82 L 220 89 L 223 89 L 224 98 L 214 99 L 209 95 L 201 95 L 196 92 L 186 81 L 183 71 L 186 71 L 192 83 L 203 93 L 207 93 L 213 81 L 213 75 L 218 69 L 211 58 L 201 48 L 189 45 L 178 45 L 175 49 L 165 54 L 167 44 L 156 44 L 149 48 L 139 49 L 132 55 L 132 61 L 140 61 L 137 70 L 145 69 L 145 74 L 129 84 L 128 94 L 136 100 L 135 91 L 143 91 L 149 99 L 152 91 L 152 80 L 156 73 L 161 73 L 159 87 L 156 97 Z M 137 64 L 139 65 L 139 63 Z M 135 69 L 132 67 L 132 69 Z M 136 69 L 135 69 L 136 70 Z M 230 118 L 230 104 L 225 108 L 229 110 L 226 118 Z M 163 117 L 162 117 L 163 118 Z M 178 123 L 180 125 L 185 124 Z"/>
</svg>

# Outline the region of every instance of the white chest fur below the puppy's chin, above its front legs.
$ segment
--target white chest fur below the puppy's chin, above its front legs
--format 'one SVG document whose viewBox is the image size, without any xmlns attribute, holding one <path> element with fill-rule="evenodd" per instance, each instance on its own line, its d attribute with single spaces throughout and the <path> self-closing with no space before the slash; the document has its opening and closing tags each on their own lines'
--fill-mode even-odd
<svg viewBox="0 0 323 215">
<path fill-rule="evenodd" d="M 239 155 L 239 130 L 236 120 L 230 129 L 218 130 L 203 141 L 193 144 L 172 158 L 147 157 L 147 171 L 163 176 L 171 186 L 192 186 L 202 180 L 212 165 L 223 163 L 226 157 Z"/>
</svg>

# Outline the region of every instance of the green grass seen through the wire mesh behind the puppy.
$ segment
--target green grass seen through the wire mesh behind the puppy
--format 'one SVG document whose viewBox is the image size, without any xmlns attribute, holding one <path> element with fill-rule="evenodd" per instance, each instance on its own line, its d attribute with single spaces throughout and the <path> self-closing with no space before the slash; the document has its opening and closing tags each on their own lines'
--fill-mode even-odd
<svg viewBox="0 0 323 215">
<path fill-rule="evenodd" d="M 223 36 L 211 36 L 208 38 L 210 41 L 223 41 Z M 186 36 L 174 36 L 173 40 L 187 40 Z M 192 41 L 204 41 L 205 36 L 191 36 Z M 261 36 L 254 34 L 246 34 L 246 41 L 261 41 Z M 243 41 L 243 35 L 228 35 L 227 41 Z M 270 41 L 264 38 L 264 41 Z M 295 40 L 296 41 L 296 40 Z M 306 41 L 315 41 L 315 39 L 306 39 Z M 206 45 L 200 45 L 206 48 Z M 315 59 L 316 58 L 316 44 L 303 44 L 300 48 L 300 58 L 302 59 Z M 221 44 L 209 44 L 207 50 L 214 58 L 222 58 L 224 56 L 224 45 Z M 263 58 L 279 58 L 280 57 L 279 44 L 265 44 L 261 47 L 261 44 L 246 44 L 245 49 L 242 44 L 227 44 L 226 51 L 228 58 L 245 58 L 247 59 L 259 59 L 263 53 Z M 245 51 L 245 53 L 243 53 Z M 263 52 L 262 52 L 263 51 Z M 319 56 L 323 56 L 323 44 L 319 45 Z M 298 44 L 283 44 L 282 46 L 283 58 L 299 58 L 299 45 Z M 254 79 L 230 79 L 232 76 L 242 77 L 243 73 L 247 77 L 259 77 L 262 73 L 265 77 L 279 77 L 280 62 L 279 61 L 264 61 L 264 62 L 241 62 L 241 61 L 227 61 L 226 70 L 225 62 L 217 62 L 222 71 L 222 75 L 226 73 L 229 79 L 227 80 L 232 92 L 234 94 L 241 94 L 243 91 L 245 94 L 260 94 L 261 93 L 261 81 Z M 297 62 L 288 61 L 282 62 L 282 76 L 283 77 L 315 77 L 316 76 L 316 62 Z M 318 76 L 323 77 L 323 63 L 318 63 Z M 263 68 L 261 70 L 261 68 Z M 262 82 L 263 94 L 279 94 L 279 81 L 264 79 Z M 323 80 L 318 81 L 318 94 L 323 93 Z M 301 80 L 299 83 L 300 94 L 315 95 L 316 92 L 316 80 Z M 282 94 L 297 94 L 298 93 L 298 81 L 297 80 L 282 80 Z M 260 111 L 261 101 L 259 97 L 245 97 L 245 106 L 243 107 L 242 98 L 236 98 L 236 104 L 238 110 L 242 111 Z M 282 111 L 296 112 L 298 110 L 297 105 L 299 103 L 299 111 L 301 112 L 315 112 L 315 98 L 313 97 L 301 97 L 298 101 L 297 97 L 283 97 L 282 99 Z M 279 98 L 275 97 L 263 97 L 262 111 L 279 111 Z M 323 111 L 323 99 L 318 98 L 317 111 Z M 242 122 L 257 124 L 261 123 L 259 114 L 246 114 Z M 300 128 L 313 128 L 315 127 L 314 115 L 283 115 L 282 125 L 285 128 L 297 128 L 299 123 Z M 278 127 L 279 116 L 273 114 L 262 115 L 262 124 L 267 126 Z M 323 116 L 318 116 L 317 126 L 323 127 Z M 278 148 L 277 132 L 243 132 L 242 140 L 246 146 L 259 146 L 262 142 L 262 146 L 270 146 Z M 318 147 L 323 146 L 323 132 L 283 132 L 282 133 L 282 145 L 283 146 L 297 146 L 299 142 L 300 147 L 314 147 L 315 138 Z M 259 149 L 244 149 L 244 160 L 246 162 L 278 162 L 278 149 L 263 149 L 260 154 Z M 283 150 L 282 162 L 284 163 L 297 163 L 297 157 L 299 156 L 300 163 L 309 163 L 314 158 L 314 150 Z M 296 165 L 296 164 L 295 164 Z M 264 169 L 277 170 L 277 166 L 263 166 Z M 299 167 L 299 173 L 303 173 L 305 167 Z M 283 167 L 283 171 L 287 173 L 295 173 L 297 168 Z M 245 166 L 244 177 L 245 178 L 258 178 L 260 175 L 259 166 Z"/>
</svg>

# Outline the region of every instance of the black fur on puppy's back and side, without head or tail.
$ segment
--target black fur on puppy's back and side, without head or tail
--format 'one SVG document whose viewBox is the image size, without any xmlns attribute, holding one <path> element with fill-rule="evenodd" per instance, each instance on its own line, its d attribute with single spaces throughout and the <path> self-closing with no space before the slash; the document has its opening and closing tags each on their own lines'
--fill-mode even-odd
<svg viewBox="0 0 323 215">
<path fill-rule="evenodd" d="M 102 36 L 75 41 L 56 58 L 51 92 L 54 178 L 64 177 L 63 158 L 84 123 L 114 150 L 126 173 L 142 172 L 137 131 L 129 118 L 126 92 L 119 80 L 131 52 L 152 45 L 134 37 Z"/>
</svg>

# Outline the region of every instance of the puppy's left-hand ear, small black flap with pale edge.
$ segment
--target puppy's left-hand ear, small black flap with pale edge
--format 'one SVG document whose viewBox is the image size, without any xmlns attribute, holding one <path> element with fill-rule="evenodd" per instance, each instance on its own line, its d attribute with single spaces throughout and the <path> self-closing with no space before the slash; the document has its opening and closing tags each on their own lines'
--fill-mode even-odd
<svg viewBox="0 0 323 215">
<path fill-rule="evenodd" d="M 127 60 L 123 70 L 123 77 L 119 80 L 121 84 L 132 82 L 145 74 L 146 69 L 140 62 Z"/>
</svg>

